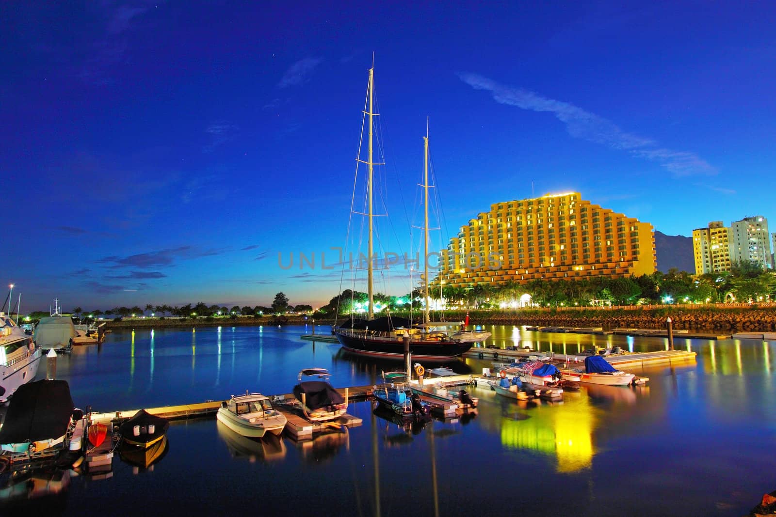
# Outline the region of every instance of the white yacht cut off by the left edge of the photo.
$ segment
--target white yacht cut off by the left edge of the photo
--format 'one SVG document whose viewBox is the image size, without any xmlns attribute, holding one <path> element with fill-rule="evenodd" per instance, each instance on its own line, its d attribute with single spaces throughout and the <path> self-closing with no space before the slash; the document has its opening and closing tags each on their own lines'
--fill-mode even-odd
<svg viewBox="0 0 776 517">
<path fill-rule="evenodd" d="M 40 356 L 33 338 L 0 312 L 0 403 L 8 402 L 19 386 L 35 378 Z"/>
</svg>

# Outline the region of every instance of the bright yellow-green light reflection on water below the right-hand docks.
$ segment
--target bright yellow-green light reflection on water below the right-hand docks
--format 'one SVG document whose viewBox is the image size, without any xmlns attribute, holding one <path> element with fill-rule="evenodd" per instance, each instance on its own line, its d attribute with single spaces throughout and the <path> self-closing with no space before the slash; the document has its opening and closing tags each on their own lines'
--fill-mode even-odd
<svg viewBox="0 0 776 517">
<path fill-rule="evenodd" d="M 587 397 L 563 405 L 534 408 L 525 420 L 501 420 L 501 444 L 554 454 L 558 472 L 576 472 L 591 466 L 595 408 Z"/>
</svg>

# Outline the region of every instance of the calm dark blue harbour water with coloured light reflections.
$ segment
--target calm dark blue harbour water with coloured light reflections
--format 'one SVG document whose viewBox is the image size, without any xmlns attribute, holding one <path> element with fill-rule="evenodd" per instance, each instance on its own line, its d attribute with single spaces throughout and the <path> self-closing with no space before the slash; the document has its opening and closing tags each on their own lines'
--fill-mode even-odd
<svg viewBox="0 0 776 517">
<path fill-rule="evenodd" d="M 496 346 L 556 353 L 591 343 L 667 346 L 656 338 L 488 329 Z M 114 332 L 102 346 L 61 356 L 57 377 L 70 383 L 79 407 L 113 412 L 246 389 L 288 393 L 303 367 L 328 368 L 335 386 L 373 384 L 379 371 L 397 367 L 301 341 L 303 332 Z M 241 441 L 215 419 L 173 422 L 168 453 L 152 469 L 136 471 L 116 457 L 112 477 L 71 476 L 56 495 L 28 499 L 32 483 L 6 487 L 0 513 L 743 515 L 776 489 L 776 343 L 676 339 L 675 346 L 697 352 L 697 363 L 633 371 L 650 377 L 646 387 L 583 387 L 553 405 L 518 405 L 473 388 L 476 416 L 406 431 L 373 415 L 369 402 L 349 408 L 362 426 L 312 443 Z M 474 373 L 488 366 L 452 364 Z"/>
</svg>

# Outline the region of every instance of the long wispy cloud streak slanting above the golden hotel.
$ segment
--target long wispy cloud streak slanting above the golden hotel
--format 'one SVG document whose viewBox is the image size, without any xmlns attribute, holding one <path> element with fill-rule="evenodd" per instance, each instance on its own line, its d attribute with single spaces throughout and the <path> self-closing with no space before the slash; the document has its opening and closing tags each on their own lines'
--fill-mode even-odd
<svg viewBox="0 0 776 517">
<path fill-rule="evenodd" d="M 459 74 L 459 78 L 476 90 L 490 91 L 494 101 L 500 104 L 534 112 L 553 113 L 557 119 L 566 124 L 566 130 L 574 138 L 600 143 L 611 149 L 625 150 L 632 156 L 655 161 L 675 176 L 718 172 L 716 167 L 708 164 L 695 153 L 663 148 L 655 140 L 626 133 L 611 120 L 587 112 L 569 102 L 542 97 L 523 88 L 504 86 L 478 74 Z"/>
</svg>

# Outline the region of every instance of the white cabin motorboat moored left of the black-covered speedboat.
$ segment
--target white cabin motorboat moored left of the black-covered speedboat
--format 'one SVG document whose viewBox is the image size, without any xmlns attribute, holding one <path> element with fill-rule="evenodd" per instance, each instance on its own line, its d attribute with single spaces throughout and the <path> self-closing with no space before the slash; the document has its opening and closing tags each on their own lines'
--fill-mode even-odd
<svg viewBox="0 0 776 517">
<path fill-rule="evenodd" d="M 235 433 L 249 438 L 261 438 L 266 433 L 278 436 L 286 427 L 286 415 L 272 407 L 261 393 L 232 395 L 221 403 L 216 418 Z"/>
</svg>

